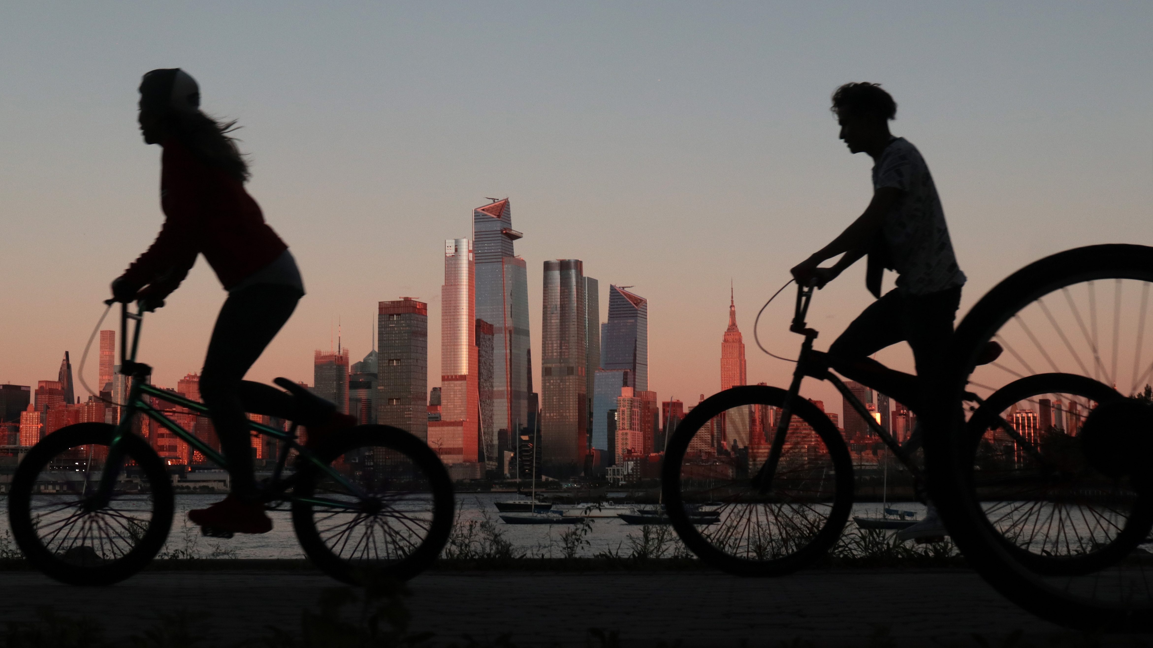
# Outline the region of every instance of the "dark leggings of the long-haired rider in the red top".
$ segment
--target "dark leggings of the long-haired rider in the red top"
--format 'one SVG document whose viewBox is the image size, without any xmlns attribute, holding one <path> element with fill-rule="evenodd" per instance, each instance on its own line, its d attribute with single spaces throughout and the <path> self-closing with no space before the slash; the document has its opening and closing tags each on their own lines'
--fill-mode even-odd
<svg viewBox="0 0 1153 648">
<path fill-rule="evenodd" d="M 300 301 L 291 286 L 257 284 L 228 295 L 220 308 L 201 371 L 201 398 L 208 405 L 220 450 L 228 460 L 232 491 L 242 499 L 257 495 L 246 412 L 303 422 L 296 399 L 270 385 L 244 380 Z M 314 414 L 315 416 L 315 414 Z"/>
</svg>

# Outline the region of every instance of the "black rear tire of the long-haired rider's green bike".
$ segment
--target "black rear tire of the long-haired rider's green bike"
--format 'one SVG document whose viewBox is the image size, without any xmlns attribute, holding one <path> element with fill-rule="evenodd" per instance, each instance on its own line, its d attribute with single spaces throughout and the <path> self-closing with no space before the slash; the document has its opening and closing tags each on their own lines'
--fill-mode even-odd
<svg viewBox="0 0 1153 648">
<path fill-rule="evenodd" d="M 374 451 L 371 460 L 366 460 L 364 458 L 368 454 L 364 453 L 349 454 L 366 450 Z M 330 466 L 338 459 L 348 457 L 349 460 L 342 464 L 338 462 L 338 469 L 340 469 L 339 466 L 341 465 L 355 464 L 356 461 L 352 461 L 352 458 L 359 458 L 361 465 L 359 467 L 348 467 L 346 472 L 354 475 L 353 479 L 359 481 L 357 485 L 369 487 L 364 490 L 368 491 L 371 489 L 371 495 L 376 496 L 372 500 L 376 504 L 371 504 L 366 503 L 363 498 L 348 495 L 347 489 L 345 489 L 346 492 L 344 495 L 337 493 L 337 487 L 329 485 L 330 477 L 317 468 L 315 464 L 309 462 L 301 468 L 300 482 L 293 493 L 293 528 L 296 532 L 296 538 L 300 541 L 304 553 L 321 570 L 337 580 L 352 585 L 362 585 L 368 580 L 377 578 L 407 580 L 427 570 L 436 560 L 440 550 L 444 549 L 445 543 L 449 541 L 449 535 L 452 533 L 454 507 L 452 481 L 449 479 L 449 472 L 428 444 L 398 428 L 389 425 L 357 425 L 327 440 L 317 450 L 316 455 Z M 391 462 L 391 466 L 389 462 Z M 412 466 L 409 467 L 408 464 Z M 382 470 L 378 468 L 378 465 L 384 465 L 385 469 Z M 397 475 L 408 481 L 398 482 L 393 479 Z M 429 491 L 428 500 L 425 502 L 424 495 L 399 499 L 399 493 L 404 491 L 387 490 L 398 483 L 415 484 L 416 488 L 427 489 Z M 340 496 L 345 499 L 355 498 L 361 503 L 362 508 L 355 513 L 356 517 L 347 525 L 349 529 L 360 526 L 362 529 L 367 527 L 369 530 L 375 532 L 377 525 L 387 525 L 387 521 L 382 522 L 382 519 L 392 519 L 400 520 L 400 526 L 405 528 L 410 529 L 412 526 L 416 526 L 423 529 L 422 536 L 415 543 L 409 538 L 409 544 L 414 544 L 414 547 L 399 557 L 390 557 L 387 555 L 380 557 L 377 553 L 376 559 L 368 559 L 339 555 L 327 542 L 331 537 L 326 540 L 324 536 L 325 529 L 318 527 L 317 515 L 324 514 L 325 510 L 319 510 L 318 506 L 307 500 L 307 498 L 314 497 L 318 491 L 326 492 L 329 490 L 337 493 L 334 496 Z M 390 493 L 392 493 L 391 497 Z M 379 506 L 379 510 L 374 512 L 375 506 Z M 424 520 L 423 514 L 416 514 L 417 508 L 421 506 L 430 508 L 430 512 L 427 514 L 430 519 Z M 338 514 L 332 513 L 327 519 L 333 519 Z M 368 525 L 364 525 L 364 520 L 370 521 Z M 392 529 L 392 527 L 389 528 Z M 395 529 L 389 532 L 393 538 L 395 537 L 394 532 Z M 351 530 L 345 533 L 351 533 Z M 347 541 L 345 545 L 347 547 Z M 366 541 L 367 547 L 368 542 Z M 374 544 L 374 548 L 376 547 Z"/>
</svg>

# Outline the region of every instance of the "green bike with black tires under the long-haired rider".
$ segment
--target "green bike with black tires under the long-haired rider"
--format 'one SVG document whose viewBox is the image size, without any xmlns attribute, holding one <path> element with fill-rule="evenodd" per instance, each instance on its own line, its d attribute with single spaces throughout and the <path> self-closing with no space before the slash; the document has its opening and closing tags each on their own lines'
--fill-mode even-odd
<svg viewBox="0 0 1153 648">
<path fill-rule="evenodd" d="M 136 421 L 156 421 L 208 462 L 227 468 L 216 449 L 157 407 L 155 401 L 164 401 L 208 415 L 203 404 L 149 384 L 151 367 L 136 361 L 144 312 L 144 306 L 131 312 L 121 304 L 120 372 L 130 387 L 120 422 L 78 423 L 45 436 L 13 476 L 8 518 L 16 544 L 36 568 L 66 583 L 127 579 L 168 536 L 172 479 L 135 432 Z M 135 322 L 130 352 L 129 322 Z M 286 378 L 274 382 L 297 399 L 316 399 Z M 415 436 L 366 424 L 310 449 L 296 440 L 295 422 L 288 431 L 256 422 L 249 427 L 280 446 L 262 489 L 267 506 L 291 510 L 301 548 L 329 575 L 349 583 L 369 574 L 408 579 L 444 548 L 452 530 L 452 482 L 436 453 Z"/>
</svg>

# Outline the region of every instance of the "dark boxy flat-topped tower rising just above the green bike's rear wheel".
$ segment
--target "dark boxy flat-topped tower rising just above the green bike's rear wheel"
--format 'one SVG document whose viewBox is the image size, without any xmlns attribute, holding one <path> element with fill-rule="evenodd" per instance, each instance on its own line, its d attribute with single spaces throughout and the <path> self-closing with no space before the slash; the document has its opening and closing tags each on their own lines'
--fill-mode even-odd
<svg viewBox="0 0 1153 648">
<path fill-rule="evenodd" d="M 428 440 L 428 304 L 379 302 L 377 340 L 377 422 Z"/>
</svg>

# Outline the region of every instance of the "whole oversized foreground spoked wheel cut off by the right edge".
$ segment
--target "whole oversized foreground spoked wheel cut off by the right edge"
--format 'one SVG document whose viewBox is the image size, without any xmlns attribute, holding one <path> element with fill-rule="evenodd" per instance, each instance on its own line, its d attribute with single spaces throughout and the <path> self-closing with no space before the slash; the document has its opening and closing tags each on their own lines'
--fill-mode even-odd
<svg viewBox="0 0 1153 648">
<path fill-rule="evenodd" d="M 1146 412 L 1128 397 L 1153 371 L 1151 286 L 1153 248 L 1038 261 L 973 307 L 935 377 L 935 425 L 951 434 L 926 436 L 926 461 L 949 532 L 989 583 L 1057 624 L 1153 630 L 1148 470 L 1091 452 L 1094 420 L 1118 404 Z M 1002 357 L 974 367 L 989 341 Z M 964 412 L 966 390 L 985 405 Z M 1103 438 L 1113 457 L 1147 459 L 1153 416 Z"/>
</svg>

